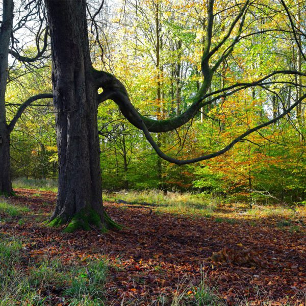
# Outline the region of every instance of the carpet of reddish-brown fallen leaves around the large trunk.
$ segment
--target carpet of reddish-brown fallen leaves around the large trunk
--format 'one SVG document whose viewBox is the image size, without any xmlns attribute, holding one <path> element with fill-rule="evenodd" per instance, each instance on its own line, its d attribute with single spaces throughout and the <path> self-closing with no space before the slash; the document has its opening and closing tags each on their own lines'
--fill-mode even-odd
<svg viewBox="0 0 306 306">
<path fill-rule="evenodd" d="M 173 296 L 182 279 L 187 277 L 196 286 L 203 275 L 233 305 L 243 296 L 250 304 L 258 304 L 258 288 L 275 305 L 284 304 L 286 296 L 298 303 L 298 292 L 306 292 L 304 234 L 279 231 L 277 218 L 260 219 L 254 231 L 249 220 L 242 218 L 235 224 L 220 223 L 213 218 L 148 215 L 146 209 L 105 203 L 108 214 L 126 228 L 103 235 L 94 231 L 64 234 L 36 220 L 52 212 L 56 194 L 39 191 L 41 196 L 33 197 L 34 193 L 17 190 L 19 196 L 12 201 L 29 207 L 32 215 L 24 218 L 22 226 L 15 227 L 18 220 L 1 224 L 2 233 L 22 237 L 24 253 L 31 260 L 48 256 L 68 265 L 88 258 L 107 259 L 107 304 L 116 305 L 124 296 L 131 304 L 147 305 L 161 294 Z"/>
</svg>

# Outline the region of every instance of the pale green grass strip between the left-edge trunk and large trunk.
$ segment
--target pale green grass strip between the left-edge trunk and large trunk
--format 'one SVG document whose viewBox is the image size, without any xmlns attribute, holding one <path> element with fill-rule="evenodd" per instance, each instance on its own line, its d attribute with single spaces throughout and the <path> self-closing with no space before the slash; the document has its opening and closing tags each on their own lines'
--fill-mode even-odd
<svg viewBox="0 0 306 306">
<path fill-rule="evenodd" d="M 26 177 L 19 177 L 12 182 L 13 188 L 36 189 L 42 191 L 57 192 L 58 182 L 56 180 L 38 180 L 27 179 Z M 40 196 L 40 194 L 38 194 Z"/>
</svg>

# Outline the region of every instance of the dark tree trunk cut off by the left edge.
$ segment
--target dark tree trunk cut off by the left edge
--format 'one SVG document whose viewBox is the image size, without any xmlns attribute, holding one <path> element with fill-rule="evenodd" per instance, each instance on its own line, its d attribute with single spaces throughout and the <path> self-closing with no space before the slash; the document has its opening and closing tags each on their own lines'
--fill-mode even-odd
<svg viewBox="0 0 306 306">
<path fill-rule="evenodd" d="M 0 30 L 0 194 L 13 192 L 10 174 L 10 133 L 6 123 L 5 92 L 8 80 L 9 43 L 13 26 L 13 1 L 3 1 Z"/>
</svg>

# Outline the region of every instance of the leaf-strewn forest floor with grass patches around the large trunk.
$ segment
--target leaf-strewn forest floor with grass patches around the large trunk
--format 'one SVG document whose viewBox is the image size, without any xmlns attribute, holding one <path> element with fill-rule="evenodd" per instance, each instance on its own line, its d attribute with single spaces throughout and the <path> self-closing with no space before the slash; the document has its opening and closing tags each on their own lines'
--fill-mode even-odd
<svg viewBox="0 0 306 306">
<path fill-rule="evenodd" d="M 0 305 L 305 305 L 305 210 L 203 217 L 105 202 L 123 230 L 66 234 L 43 223 L 56 193 L 15 191 L 0 207 L 1 269 L 17 271 Z M 20 277 L 31 297 L 12 289 Z"/>
</svg>

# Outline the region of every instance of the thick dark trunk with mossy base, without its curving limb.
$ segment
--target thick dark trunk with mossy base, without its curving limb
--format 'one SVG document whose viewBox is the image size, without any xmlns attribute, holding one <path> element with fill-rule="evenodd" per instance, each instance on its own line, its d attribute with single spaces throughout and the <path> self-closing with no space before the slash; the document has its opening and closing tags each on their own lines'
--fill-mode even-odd
<svg viewBox="0 0 306 306">
<path fill-rule="evenodd" d="M 53 58 L 59 156 L 58 199 L 51 224 L 66 231 L 108 226 L 101 190 L 97 88 L 92 78 L 85 1 L 46 0 Z"/>
</svg>

